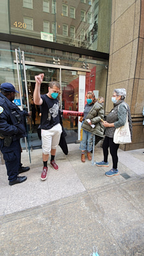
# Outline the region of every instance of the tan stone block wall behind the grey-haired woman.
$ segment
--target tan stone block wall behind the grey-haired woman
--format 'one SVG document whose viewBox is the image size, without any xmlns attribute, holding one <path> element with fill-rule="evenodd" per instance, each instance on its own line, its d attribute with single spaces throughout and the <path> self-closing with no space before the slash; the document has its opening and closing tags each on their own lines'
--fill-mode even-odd
<svg viewBox="0 0 144 256">
<path fill-rule="evenodd" d="M 114 88 L 125 88 L 131 108 L 132 143 L 124 150 L 144 148 L 144 1 L 113 0 L 106 114 L 111 110 Z"/>
</svg>

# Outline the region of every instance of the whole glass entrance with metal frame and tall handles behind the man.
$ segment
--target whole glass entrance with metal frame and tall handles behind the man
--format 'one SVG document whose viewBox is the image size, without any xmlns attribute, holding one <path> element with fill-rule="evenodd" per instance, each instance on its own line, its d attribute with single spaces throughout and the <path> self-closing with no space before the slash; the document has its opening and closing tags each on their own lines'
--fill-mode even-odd
<svg viewBox="0 0 144 256">
<path fill-rule="evenodd" d="M 61 86 L 61 95 L 59 98 L 60 109 L 83 111 L 84 108 L 84 95 L 86 74 L 91 70 L 76 67 L 66 67 L 61 65 L 36 63 L 24 60 L 24 52 L 19 54 L 15 50 L 17 64 L 17 74 L 19 81 L 20 108 L 31 111 L 31 119 L 28 120 L 28 140 L 21 141 L 22 148 L 27 145 L 31 150 L 33 148 L 41 147 L 41 141 L 38 139 L 37 128 L 40 124 L 40 107 L 36 106 L 33 102 L 33 92 L 35 89 L 35 76 L 44 73 L 44 81 L 41 84 L 40 93 L 45 94 L 48 92 L 49 83 L 51 81 L 58 81 Z M 79 95 L 79 83 L 81 92 Z M 82 99 L 83 98 L 83 99 Z M 81 108 L 81 109 L 79 109 Z M 78 117 L 68 116 L 63 118 L 63 127 L 67 132 L 67 143 L 76 143 L 79 139 L 80 126 L 78 124 Z M 27 143 L 27 145 L 26 145 Z"/>
</svg>

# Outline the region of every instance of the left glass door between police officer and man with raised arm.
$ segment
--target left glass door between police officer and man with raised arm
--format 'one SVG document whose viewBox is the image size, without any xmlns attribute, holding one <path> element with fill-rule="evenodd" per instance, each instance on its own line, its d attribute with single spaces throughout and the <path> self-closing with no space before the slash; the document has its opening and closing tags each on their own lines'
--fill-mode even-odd
<svg viewBox="0 0 144 256">
<path fill-rule="evenodd" d="M 44 73 L 44 81 L 40 87 L 40 94 L 45 94 L 48 92 L 49 82 L 58 81 L 60 82 L 60 70 L 58 68 L 47 68 L 47 67 L 39 67 L 35 65 L 26 65 L 26 80 L 28 86 L 28 102 L 29 102 L 29 110 L 31 111 L 31 118 L 28 120 L 28 133 L 29 133 L 29 147 L 31 150 L 33 148 L 40 148 L 42 145 L 42 141 L 38 139 L 37 128 L 40 125 L 40 106 L 37 106 L 33 102 L 33 92 L 35 90 L 35 76 L 38 74 Z M 25 82 L 23 78 L 23 82 Z M 26 106 L 26 93 L 25 90 L 22 89 L 24 96 L 24 106 Z M 27 106 L 26 106 L 27 108 Z M 24 141 L 23 145 L 24 147 Z"/>
</svg>

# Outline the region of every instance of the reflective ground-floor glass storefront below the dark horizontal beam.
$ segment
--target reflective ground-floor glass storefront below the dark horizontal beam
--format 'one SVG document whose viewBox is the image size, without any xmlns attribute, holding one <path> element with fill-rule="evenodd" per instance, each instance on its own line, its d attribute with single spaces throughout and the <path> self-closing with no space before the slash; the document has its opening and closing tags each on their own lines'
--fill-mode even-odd
<svg viewBox="0 0 144 256">
<path fill-rule="evenodd" d="M 42 47 L 36 47 L 34 45 L 24 45 L 16 43 L 1 43 L 1 61 L 0 61 L 0 83 L 9 82 L 15 85 L 16 90 L 19 91 L 18 77 L 17 77 L 17 66 L 15 61 L 15 47 L 20 46 L 20 50 L 24 51 L 25 61 L 33 61 L 30 65 L 26 63 L 26 79 L 28 84 L 28 100 L 29 105 L 31 105 L 31 100 L 33 99 L 33 91 L 35 88 L 35 76 L 43 73 L 45 74 L 44 83 L 41 86 L 41 93 L 45 94 L 48 92 L 48 86 L 50 81 L 61 81 L 61 98 L 62 103 L 61 108 L 66 110 L 78 110 L 78 100 L 79 100 L 79 75 L 76 70 L 68 70 L 67 68 L 88 68 L 90 72 L 86 72 L 86 84 L 85 91 L 95 90 L 97 95 L 106 98 L 106 81 L 108 74 L 108 61 L 97 61 L 92 58 L 84 58 L 84 56 L 79 56 L 79 54 L 74 54 L 70 52 L 63 51 L 51 51 L 51 49 L 45 49 Z M 47 50 L 47 51 L 46 51 Z M 37 52 L 37 53 L 36 53 Z M 64 53 L 64 54 L 63 54 Z M 54 67 L 43 67 L 43 65 L 52 64 L 57 65 Z M 60 65 L 58 65 L 58 62 Z M 35 65 L 34 63 L 38 63 Z M 39 65 L 41 63 L 42 65 Z M 60 68 L 61 69 L 61 79 L 60 79 Z M 24 83 L 23 70 L 20 74 L 20 83 Z M 22 85 L 21 85 L 22 86 Z M 23 104 L 26 105 L 26 92 L 22 92 Z M 15 99 L 19 99 L 19 94 L 16 94 Z M 27 106 L 26 106 L 27 108 Z M 27 109 L 26 109 L 27 110 Z M 29 141 L 30 145 L 33 147 L 40 146 L 40 141 L 37 138 L 36 127 L 40 124 L 39 109 L 36 106 L 36 118 L 35 125 L 33 120 L 28 121 L 29 125 Z M 77 141 L 77 118 L 65 118 L 63 119 L 64 127 L 67 131 L 68 136 L 66 140 L 68 142 Z M 37 140 L 37 141 L 36 141 Z M 24 144 L 24 143 L 23 143 Z M 24 145 L 23 145 L 24 146 Z"/>
</svg>

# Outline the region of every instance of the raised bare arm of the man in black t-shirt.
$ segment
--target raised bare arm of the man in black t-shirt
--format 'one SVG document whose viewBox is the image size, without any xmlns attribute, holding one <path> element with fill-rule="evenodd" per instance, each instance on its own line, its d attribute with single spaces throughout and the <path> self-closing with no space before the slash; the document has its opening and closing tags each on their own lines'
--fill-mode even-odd
<svg viewBox="0 0 144 256">
<path fill-rule="evenodd" d="M 35 90 L 33 92 L 33 101 L 36 105 L 40 106 L 42 105 L 42 98 L 40 97 L 40 85 L 44 79 L 44 74 L 39 74 L 38 76 L 35 76 Z"/>
</svg>

